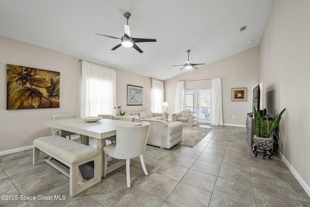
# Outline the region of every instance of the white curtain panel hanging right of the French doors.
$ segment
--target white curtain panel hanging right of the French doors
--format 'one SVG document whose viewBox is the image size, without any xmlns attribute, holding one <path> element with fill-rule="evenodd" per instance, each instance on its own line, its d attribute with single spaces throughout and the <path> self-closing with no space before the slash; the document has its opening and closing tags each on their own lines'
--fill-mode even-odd
<svg viewBox="0 0 310 207">
<path fill-rule="evenodd" d="M 222 80 L 212 79 L 212 113 L 211 124 L 214 126 L 223 125 L 222 115 Z"/>
</svg>

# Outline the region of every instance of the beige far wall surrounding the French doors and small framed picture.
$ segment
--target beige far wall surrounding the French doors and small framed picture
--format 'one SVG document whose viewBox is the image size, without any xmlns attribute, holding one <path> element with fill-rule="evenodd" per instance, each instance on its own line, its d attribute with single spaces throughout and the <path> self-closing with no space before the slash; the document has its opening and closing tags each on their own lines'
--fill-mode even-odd
<svg viewBox="0 0 310 207">
<path fill-rule="evenodd" d="M 246 43 L 247 44 L 247 43 Z M 185 69 L 184 69 L 185 70 Z M 252 111 L 253 88 L 259 84 L 259 47 L 247 49 L 212 64 L 200 66 L 180 76 L 164 81 L 167 112 L 174 112 L 177 81 L 222 78 L 223 123 L 245 126 L 246 116 Z M 186 89 L 210 88 L 212 80 L 186 81 Z M 232 101 L 232 88 L 248 88 L 247 101 Z M 234 119 L 232 116 L 234 115 Z"/>
</svg>

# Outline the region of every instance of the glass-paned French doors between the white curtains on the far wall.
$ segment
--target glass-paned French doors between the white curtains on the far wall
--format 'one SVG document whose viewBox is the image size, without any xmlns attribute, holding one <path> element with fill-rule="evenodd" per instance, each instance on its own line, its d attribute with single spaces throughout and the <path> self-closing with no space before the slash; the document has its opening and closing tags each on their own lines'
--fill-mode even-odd
<svg viewBox="0 0 310 207">
<path fill-rule="evenodd" d="M 197 113 L 200 123 L 211 123 L 211 89 L 186 90 L 185 111 Z"/>
</svg>

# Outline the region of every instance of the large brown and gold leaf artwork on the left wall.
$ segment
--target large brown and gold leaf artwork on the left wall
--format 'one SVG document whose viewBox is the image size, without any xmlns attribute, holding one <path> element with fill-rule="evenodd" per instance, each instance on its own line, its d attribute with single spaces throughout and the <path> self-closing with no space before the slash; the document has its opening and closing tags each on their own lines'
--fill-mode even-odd
<svg viewBox="0 0 310 207">
<path fill-rule="evenodd" d="M 60 73 L 7 64 L 7 110 L 59 108 Z"/>
</svg>

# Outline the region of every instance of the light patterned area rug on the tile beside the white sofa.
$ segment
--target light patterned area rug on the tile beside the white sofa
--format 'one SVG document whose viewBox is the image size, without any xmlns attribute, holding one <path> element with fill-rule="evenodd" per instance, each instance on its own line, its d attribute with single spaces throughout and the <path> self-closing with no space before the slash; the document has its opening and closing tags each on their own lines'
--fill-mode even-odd
<svg viewBox="0 0 310 207">
<path fill-rule="evenodd" d="M 206 127 L 183 127 L 182 141 L 178 144 L 194 147 L 199 143 L 212 128 Z"/>
</svg>

